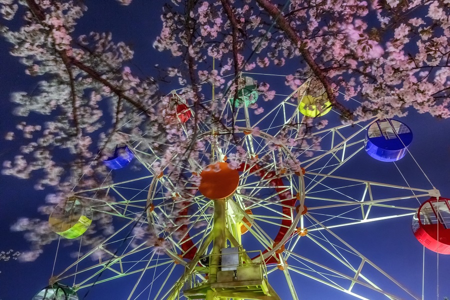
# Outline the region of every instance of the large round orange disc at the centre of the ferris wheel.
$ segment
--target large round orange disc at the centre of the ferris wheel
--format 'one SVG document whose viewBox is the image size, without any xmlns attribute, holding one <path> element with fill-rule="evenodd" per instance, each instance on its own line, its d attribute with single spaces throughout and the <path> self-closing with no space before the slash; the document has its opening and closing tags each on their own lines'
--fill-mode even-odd
<svg viewBox="0 0 450 300">
<path fill-rule="evenodd" d="M 231 196 L 239 185 L 239 172 L 226 162 L 208 165 L 200 173 L 198 190 L 206 198 L 218 200 Z"/>
</svg>

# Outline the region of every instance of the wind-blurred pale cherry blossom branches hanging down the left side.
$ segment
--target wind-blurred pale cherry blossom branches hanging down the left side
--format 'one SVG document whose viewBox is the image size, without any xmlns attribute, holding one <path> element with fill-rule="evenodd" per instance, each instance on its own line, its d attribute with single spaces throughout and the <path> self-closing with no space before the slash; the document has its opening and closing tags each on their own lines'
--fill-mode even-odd
<svg viewBox="0 0 450 300">
<path fill-rule="evenodd" d="M 25 120 L 16 129 L 20 138 L 29 142 L 21 146 L 13 161 L 3 162 L 2 173 L 26 179 L 39 172 L 35 188 L 53 187 L 55 191 L 46 199 L 49 205 L 39 208 L 48 214 L 75 184 L 98 186 L 104 178 L 110 180 L 102 159 L 124 142 L 123 135 L 114 134 L 118 128 L 137 134 L 141 124 L 147 135 L 157 130 L 152 123 L 156 85 L 152 79 L 140 80 L 130 74 L 124 63 L 133 52 L 124 43 L 112 43 L 110 34 L 70 35 L 86 9 L 78 2 L 1 1 L 6 20 L 12 20 L 22 8 L 23 25 L 16 30 L 1 25 L 0 31 L 13 44 L 10 54 L 20 58 L 25 73 L 45 79 L 31 95 L 12 95 L 14 113 Z M 108 102 L 106 111 L 100 102 Z M 44 124 L 29 124 L 26 117 L 30 114 L 48 118 Z M 134 118 L 133 127 L 125 124 L 129 118 Z M 10 132 L 5 138 L 15 135 Z M 61 151 L 65 153 L 63 160 Z M 71 161 L 68 165 L 64 163 L 67 159 Z M 108 222 L 103 224 L 108 230 Z M 12 229 L 30 229 L 26 238 L 34 246 L 21 256 L 23 260 L 33 260 L 42 245 L 57 238 L 46 221 L 20 219 Z"/>
</svg>

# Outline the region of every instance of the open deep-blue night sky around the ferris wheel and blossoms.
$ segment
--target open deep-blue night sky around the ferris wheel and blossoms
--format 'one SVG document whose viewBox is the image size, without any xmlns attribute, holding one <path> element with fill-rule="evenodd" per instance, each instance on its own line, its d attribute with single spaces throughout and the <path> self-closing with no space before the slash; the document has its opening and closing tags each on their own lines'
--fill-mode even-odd
<svg viewBox="0 0 450 300">
<path fill-rule="evenodd" d="M 156 1 L 134 0 L 128 7 L 119 6 L 115 1 L 87 2 L 88 11 L 81 18 L 76 35 L 87 34 L 92 30 L 97 32 L 110 31 L 115 42 L 124 41 L 131 44 L 134 50 L 133 71 L 138 75 L 151 76 L 155 74 L 153 66 L 167 60 L 166 53 L 156 52 L 152 43 L 159 33 L 161 8 Z M 4 135 L 14 131 L 15 125 L 23 119 L 12 115 L 13 105 L 9 95 L 16 91 L 31 92 L 37 79 L 24 74 L 24 68 L 16 58 L 8 55 L 9 45 L 0 40 L 0 161 L 12 160 L 18 152 L 20 140 L 5 141 Z M 141 72 L 141 74 L 139 74 Z M 279 73 L 277 69 L 269 70 Z M 267 73 L 269 73 L 267 72 Z M 282 74 L 285 74 L 282 72 Z M 174 87 L 162 86 L 162 94 L 168 93 Z M 285 89 L 285 87 L 282 87 Z M 330 113 L 331 114 L 331 113 Z M 40 118 L 31 115 L 29 118 Z M 36 120 L 36 119 L 34 119 Z M 450 197 L 450 120 L 437 120 L 429 115 L 409 112 L 408 116 L 399 119 L 406 123 L 414 133 L 414 139 L 409 151 L 417 160 L 433 185 L 440 190 L 443 197 Z M 365 159 L 365 160 L 364 160 Z M 361 163 L 362 162 L 362 163 Z M 373 179 L 374 181 L 390 182 L 391 177 L 397 180 L 400 176 L 392 172 L 389 163 L 382 163 L 359 153 L 354 162 L 347 166 L 348 177 Z M 430 188 L 425 177 L 410 157 L 405 157 L 397 163 L 404 174 L 407 174 L 411 185 L 419 188 Z M 34 176 L 38 176 L 35 174 Z M 393 180 L 393 179 L 392 179 Z M 412 184 L 413 183 L 413 184 Z M 0 250 L 9 248 L 23 251 L 27 243 L 22 233 L 11 232 L 9 227 L 21 216 L 42 217 L 37 207 L 44 203 L 46 190 L 35 191 L 33 178 L 21 180 L 0 175 Z M 44 217 L 42 217 L 44 218 Z M 421 293 L 422 246 L 415 240 L 411 232 L 411 218 L 403 217 L 380 222 L 360 224 L 333 230 L 357 250 L 403 283 L 413 293 Z M 51 274 L 56 242 L 44 248 L 44 253 L 34 262 L 20 263 L 18 261 L 0 262 L 0 300 L 31 299 L 31 297 L 48 282 Z M 58 254 L 59 255 L 59 254 Z M 62 269 L 73 258 L 61 254 L 55 269 Z M 450 257 L 439 255 L 439 297 L 450 296 Z M 436 298 L 436 262 L 437 255 L 425 250 L 425 299 Z M 282 276 L 282 273 L 279 273 Z M 300 299 L 324 299 L 332 297 L 336 300 L 355 299 L 333 288 L 298 277 L 294 282 Z M 269 277 L 270 280 L 270 277 Z M 127 278 L 110 285 L 95 286 L 85 299 L 123 299 L 128 295 L 133 283 Z M 276 282 L 270 281 L 272 285 Z M 120 284 L 120 288 L 117 288 Z M 276 288 L 275 288 L 276 289 Z M 83 295 L 85 291 L 80 291 Z M 289 296 L 281 298 L 289 299 Z M 380 296 L 381 298 L 381 296 Z"/>
</svg>

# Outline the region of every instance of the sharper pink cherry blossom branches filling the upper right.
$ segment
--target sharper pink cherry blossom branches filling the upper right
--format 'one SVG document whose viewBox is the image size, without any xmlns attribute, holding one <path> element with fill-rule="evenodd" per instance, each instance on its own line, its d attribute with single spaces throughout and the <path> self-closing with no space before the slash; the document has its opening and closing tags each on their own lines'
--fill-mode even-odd
<svg viewBox="0 0 450 300">
<path fill-rule="evenodd" d="M 346 117 L 413 107 L 447 118 L 448 13 L 447 1 L 173 1 L 154 46 L 184 58 L 176 75 L 190 83 L 209 56 L 222 62 L 220 74 L 289 61 Z M 337 91 L 364 102 L 350 111 Z"/>
</svg>

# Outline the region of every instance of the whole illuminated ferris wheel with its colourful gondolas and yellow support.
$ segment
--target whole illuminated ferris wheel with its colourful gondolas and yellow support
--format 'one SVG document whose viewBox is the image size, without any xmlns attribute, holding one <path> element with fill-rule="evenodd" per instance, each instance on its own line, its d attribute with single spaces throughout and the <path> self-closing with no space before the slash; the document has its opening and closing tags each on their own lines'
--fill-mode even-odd
<svg viewBox="0 0 450 300">
<path fill-rule="evenodd" d="M 331 105 L 308 81 L 261 114 L 250 108 L 262 101 L 253 78 L 238 81 L 237 97 L 207 118 L 173 91 L 166 106 L 185 148 L 161 156 L 170 145 L 132 140 L 105 160 L 116 169 L 113 183 L 75 190 L 56 207 L 49 223 L 64 238 L 82 236 L 92 214 L 111 216 L 115 231 L 33 300 L 78 299 L 76 291 L 111 280 L 121 292 L 126 282 L 127 299 L 297 300 L 308 282 L 349 298 L 419 299 L 335 233 L 403 218 L 423 245 L 450 253 L 442 239 L 448 199 L 434 187 L 367 180 L 346 167 L 363 152 L 367 160 L 401 159 L 410 129 L 376 116 L 310 131 Z"/>
</svg>

